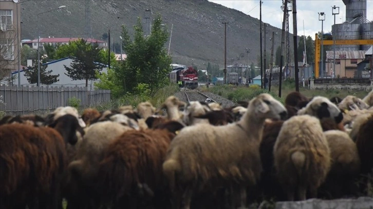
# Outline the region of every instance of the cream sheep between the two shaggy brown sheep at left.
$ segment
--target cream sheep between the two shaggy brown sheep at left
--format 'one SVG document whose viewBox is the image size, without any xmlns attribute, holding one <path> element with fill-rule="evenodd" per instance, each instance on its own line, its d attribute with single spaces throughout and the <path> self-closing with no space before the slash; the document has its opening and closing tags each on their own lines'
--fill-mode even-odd
<svg viewBox="0 0 373 209">
<path fill-rule="evenodd" d="M 92 191 L 92 188 L 97 176 L 99 161 L 103 157 L 103 150 L 116 137 L 126 131 L 134 130 L 132 127 L 121 124 L 121 122 L 124 123 L 126 116 L 121 115 L 119 118 L 118 115 L 121 114 L 114 115 L 120 119 L 118 122 L 96 122 L 86 129 L 77 154 L 68 165 L 64 176 L 63 194 L 70 208 L 81 208 L 85 204 L 88 206 L 90 200 L 95 200 L 96 193 Z"/>
</svg>

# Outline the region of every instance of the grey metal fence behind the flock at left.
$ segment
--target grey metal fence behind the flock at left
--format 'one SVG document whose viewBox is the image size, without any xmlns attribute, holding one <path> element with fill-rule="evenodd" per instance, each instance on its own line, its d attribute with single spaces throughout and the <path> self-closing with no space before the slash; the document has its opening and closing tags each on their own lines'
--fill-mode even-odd
<svg viewBox="0 0 373 209">
<path fill-rule="evenodd" d="M 110 101 L 110 90 L 2 85 L 0 86 L 0 112 L 5 112 L 7 115 L 43 114 L 61 106 L 68 106 L 71 98 L 79 99 L 82 108 L 102 105 Z"/>
</svg>

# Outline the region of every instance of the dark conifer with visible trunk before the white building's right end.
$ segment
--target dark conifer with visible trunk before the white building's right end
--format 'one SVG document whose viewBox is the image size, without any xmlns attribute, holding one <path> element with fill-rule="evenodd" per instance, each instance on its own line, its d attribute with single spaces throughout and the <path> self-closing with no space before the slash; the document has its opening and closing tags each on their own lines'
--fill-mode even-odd
<svg viewBox="0 0 373 209">
<path fill-rule="evenodd" d="M 73 80 L 85 80 L 85 86 L 88 86 L 88 80 L 96 80 L 96 71 L 99 73 L 104 65 L 97 62 L 100 60 L 100 50 L 97 44 L 87 43 L 84 39 L 78 40 L 79 48 L 73 58 L 71 67 L 64 65 L 70 78 Z"/>
</svg>

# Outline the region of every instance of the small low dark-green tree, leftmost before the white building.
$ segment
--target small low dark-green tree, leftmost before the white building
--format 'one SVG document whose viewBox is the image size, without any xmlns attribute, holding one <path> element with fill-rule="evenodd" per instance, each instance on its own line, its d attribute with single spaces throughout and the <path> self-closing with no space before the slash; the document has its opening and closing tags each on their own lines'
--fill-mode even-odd
<svg viewBox="0 0 373 209">
<path fill-rule="evenodd" d="M 46 63 L 46 59 L 41 60 L 40 64 L 40 83 L 45 84 L 45 85 L 51 85 L 52 83 L 55 83 L 59 81 L 58 75 L 51 75 L 52 70 L 47 71 L 48 65 L 42 65 Z M 33 83 L 38 83 L 38 61 L 33 62 L 33 66 L 29 66 L 28 70 L 25 70 L 25 77 L 27 81 L 31 84 Z"/>
</svg>

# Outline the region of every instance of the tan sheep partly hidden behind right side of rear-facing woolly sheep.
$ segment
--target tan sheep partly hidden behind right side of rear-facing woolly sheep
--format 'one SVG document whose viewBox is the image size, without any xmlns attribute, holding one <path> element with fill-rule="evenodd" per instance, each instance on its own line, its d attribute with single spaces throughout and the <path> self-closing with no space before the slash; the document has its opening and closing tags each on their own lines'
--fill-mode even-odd
<svg viewBox="0 0 373 209">
<path fill-rule="evenodd" d="M 343 131 L 330 130 L 324 134 L 330 149 L 331 166 L 319 193 L 328 198 L 352 195 L 358 191 L 355 178 L 360 173 L 360 157 L 356 144 Z"/>
</svg>

